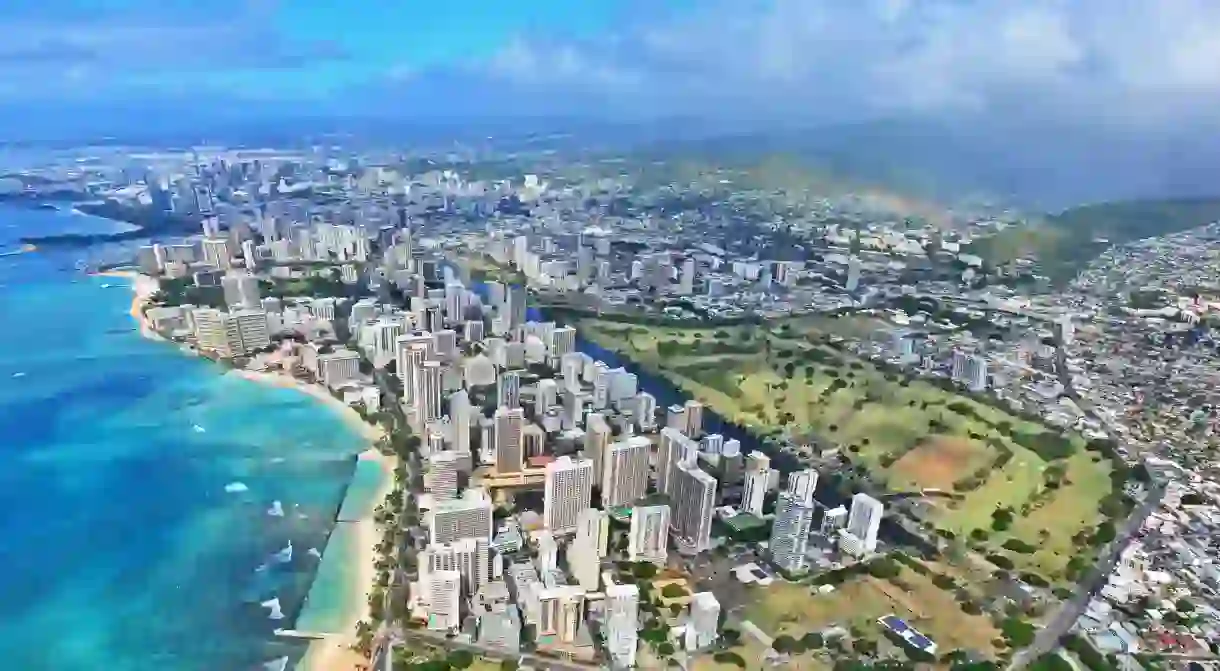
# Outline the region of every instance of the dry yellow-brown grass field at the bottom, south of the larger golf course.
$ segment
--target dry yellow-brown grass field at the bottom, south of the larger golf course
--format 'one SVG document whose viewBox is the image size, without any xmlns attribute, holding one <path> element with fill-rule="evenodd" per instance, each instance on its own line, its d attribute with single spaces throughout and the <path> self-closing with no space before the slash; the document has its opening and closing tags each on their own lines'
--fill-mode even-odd
<svg viewBox="0 0 1220 671">
<path fill-rule="evenodd" d="M 893 580 L 853 578 L 828 594 L 809 586 L 776 582 L 760 590 L 745 619 L 771 636 L 800 637 L 832 626 L 880 639 L 877 619 L 895 614 L 937 642 L 941 650 L 971 649 L 994 655 L 999 632 L 986 615 L 961 610 L 950 592 L 904 567 Z"/>
</svg>

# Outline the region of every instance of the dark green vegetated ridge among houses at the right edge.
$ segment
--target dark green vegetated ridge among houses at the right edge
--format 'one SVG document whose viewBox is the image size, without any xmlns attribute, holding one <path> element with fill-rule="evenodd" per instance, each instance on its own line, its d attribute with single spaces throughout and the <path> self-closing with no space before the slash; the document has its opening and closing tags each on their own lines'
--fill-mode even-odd
<svg viewBox="0 0 1220 671">
<path fill-rule="evenodd" d="M 1177 233 L 1220 221 L 1220 198 L 1102 203 L 974 242 L 969 251 L 992 264 L 1035 259 L 1053 282 L 1076 272 L 1111 244 Z"/>
</svg>

